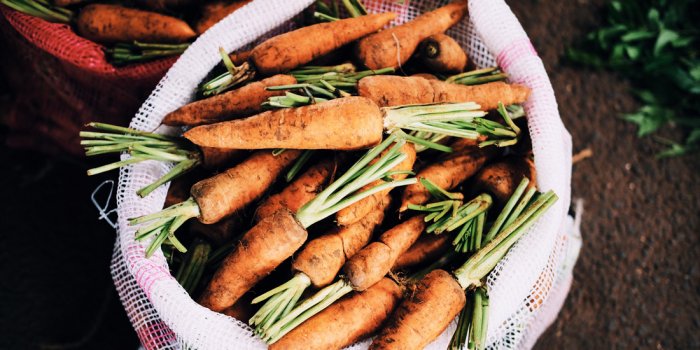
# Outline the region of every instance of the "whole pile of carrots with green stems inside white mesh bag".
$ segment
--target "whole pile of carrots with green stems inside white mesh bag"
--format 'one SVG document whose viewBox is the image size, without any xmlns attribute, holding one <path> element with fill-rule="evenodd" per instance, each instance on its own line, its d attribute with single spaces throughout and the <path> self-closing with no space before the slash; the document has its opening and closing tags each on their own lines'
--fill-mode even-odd
<svg viewBox="0 0 700 350">
<path fill-rule="evenodd" d="M 451 346 L 483 348 L 485 278 L 557 200 L 535 188 L 530 90 L 469 70 L 445 34 L 465 1 L 395 27 L 343 3 L 221 53 L 198 99 L 163 119 L 182 136 L 90 124 L 88 155 L 130 154 L 90 173 L 174 162 L 138 192 L 172 181 L 164 210 L 130 219 L 136 239 L 271 348 L 378 335 L 372 348 L 420 349 L 457 315 Z"/>
</svg>

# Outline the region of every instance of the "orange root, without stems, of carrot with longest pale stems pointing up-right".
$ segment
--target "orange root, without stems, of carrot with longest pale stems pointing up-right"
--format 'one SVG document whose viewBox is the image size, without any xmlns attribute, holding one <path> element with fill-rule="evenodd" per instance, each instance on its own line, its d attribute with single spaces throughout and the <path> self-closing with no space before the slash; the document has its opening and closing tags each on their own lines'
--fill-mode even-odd
<svg viewBox="0 0 700 350">
<path fill-rule="evenodd" d="M 213 311 L 231 307 L 306 241 L 306 230 L 289 210 L 268 216 L 246 232 L 222 262 L 199 303 Z"/>
</svg>

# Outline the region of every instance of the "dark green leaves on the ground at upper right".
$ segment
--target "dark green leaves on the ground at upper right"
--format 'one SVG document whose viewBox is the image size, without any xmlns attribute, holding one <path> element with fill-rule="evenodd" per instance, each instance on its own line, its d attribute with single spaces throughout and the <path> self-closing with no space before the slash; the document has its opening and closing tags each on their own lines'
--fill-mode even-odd
<svg viewBox="0 0 700 350">
<path fill-rule="evenodd" d="M 687 131 L 684 142 L 664 140 L 660 157 L 700 148 L 695 135 L 700 110 L 700 19 L 697 0 L 618 0 L 607 8 L 605 24 L 588 34 L 567 58 L 593 68 L 611 69 L 642 90 L 643 106 L 622 117 L 635 123 L 639 136 L 665 125 Z M 661 140 L 661 139 L 660 139 Z"/>
</svg>

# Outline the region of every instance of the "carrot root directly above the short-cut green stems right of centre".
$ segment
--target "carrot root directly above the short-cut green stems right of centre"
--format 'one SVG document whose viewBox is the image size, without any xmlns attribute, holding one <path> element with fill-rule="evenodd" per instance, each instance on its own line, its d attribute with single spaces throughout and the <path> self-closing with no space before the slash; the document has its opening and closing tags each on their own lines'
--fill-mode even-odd
<svg viewBox="0 0 700 350">
<path fill-rule="evenodd" d="M 494 153 L 491 148 L 463 146 L 474 142 L 473 140 L 460 139 L 456 142 L 458 145 L 453 147 L 453 153 L 423 168 L 416 177 L 428 179 L 440 188 L 451 190 L 476 174 Z M 406 211 L 409 204 L 423 204 L 428 199 L 430 192 L 421 182 L 409 185 L 404 190 L 399 211 Z"/>
</svg>

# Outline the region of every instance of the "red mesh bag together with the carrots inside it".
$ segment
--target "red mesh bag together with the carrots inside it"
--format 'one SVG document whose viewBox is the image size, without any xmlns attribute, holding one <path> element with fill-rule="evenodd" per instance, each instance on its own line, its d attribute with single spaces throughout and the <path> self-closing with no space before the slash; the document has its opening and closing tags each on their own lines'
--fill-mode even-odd
<svg viewBox="0 0 700 350">
<path fill-rule="evenodd" d="M 82 125 L 128 122 L 176 56 L 247 2 L 0 1 L 3 70 L 18 91 L 8 141 L 78 154 Z"/>
</svg>

